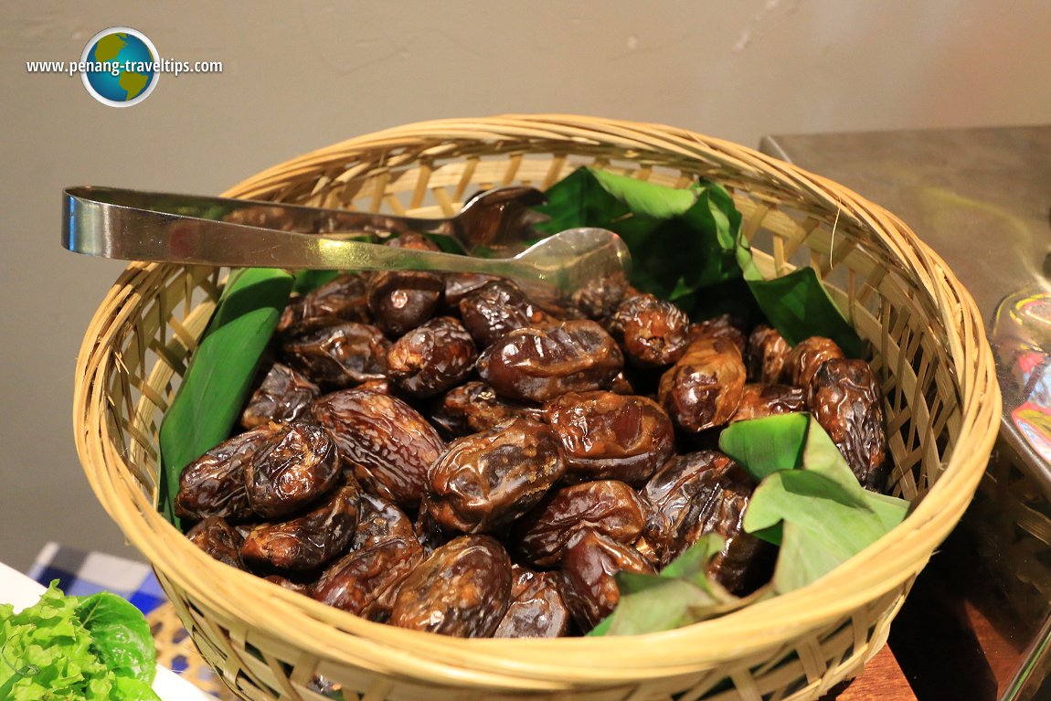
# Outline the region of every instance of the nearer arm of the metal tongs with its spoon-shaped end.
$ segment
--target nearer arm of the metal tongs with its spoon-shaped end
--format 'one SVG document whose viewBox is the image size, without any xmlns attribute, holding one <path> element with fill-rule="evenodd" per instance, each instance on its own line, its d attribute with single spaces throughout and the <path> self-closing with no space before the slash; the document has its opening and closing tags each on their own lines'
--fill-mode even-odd
<svg viewBox="0 0 1051 701">
<path fill-rule="evenodd" d="M 209 212 L 201 208 L 176 206 L 181 195 L 158 194 L 156 202 L 144 200 L 148 206 L 141 207 L 114 204 L 105 197 L 96 198 L 97 193 L 97 188 L 65 191 L 62 245 L 66 249 L 103 257 L 187 265 L 475 272 L 510 277 L 533 296 L 557 301 L 570 298 L 596 279 L 626 275 L 631 267 L 627 247 L 605 229 L 568 229 L 514 257 L 481 259 L 348 238 L 360 235 L 360 231 L 315 234 L 223 221 L 229 211 L 217 210 L 204 217 Z"/>
</svg>

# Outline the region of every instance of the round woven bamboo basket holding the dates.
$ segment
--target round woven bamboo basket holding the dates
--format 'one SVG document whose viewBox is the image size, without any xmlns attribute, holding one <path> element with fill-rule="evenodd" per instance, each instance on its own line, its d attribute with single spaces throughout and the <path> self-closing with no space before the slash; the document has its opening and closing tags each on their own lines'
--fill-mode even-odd
<svg viewBox="0 0 1051 701">
<path fill-rule="evenodd" d="M 913 502 L 910 515 L 815 584 L 666 633 L 461 640 L 372 623 L 211 560 L 157 513 L 158 428 L 224 271 L 132 263 L 78 358 L 77 447 L 98 498 L 240 697 L 320 701 L 311 690 L 320 675 L 348 701 L 816 699 L 884 644 L 916 574 L 970 501 L 1001 415 L 973 301 L 893 215 L 742 146 L 562 115 L 392 128 L 275 166 L 226 194 L 449 215 L 478 188 L 543 188 L 580 165 L 673 186 L 716 179 L 733 192 L 764 274 L 818 271 L 871 344 L 893 492 Z"/>
</svg>

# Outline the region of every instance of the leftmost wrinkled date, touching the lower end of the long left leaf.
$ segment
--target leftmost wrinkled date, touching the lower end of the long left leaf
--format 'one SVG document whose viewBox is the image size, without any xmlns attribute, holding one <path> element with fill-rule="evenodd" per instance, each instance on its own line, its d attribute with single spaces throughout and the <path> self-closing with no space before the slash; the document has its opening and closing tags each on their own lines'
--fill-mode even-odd
<svg viewBox="0 0 1051 701">
<path fill-rule="evenodd" d="M 270 440 L 274 430 L 264 426 L 227 438 L 187 465 L 179 476 L 176 514 L 201 519 L 223 516 L 233 521 L 252 518 L 245 472 L 255 451 Z"/>
</svg>

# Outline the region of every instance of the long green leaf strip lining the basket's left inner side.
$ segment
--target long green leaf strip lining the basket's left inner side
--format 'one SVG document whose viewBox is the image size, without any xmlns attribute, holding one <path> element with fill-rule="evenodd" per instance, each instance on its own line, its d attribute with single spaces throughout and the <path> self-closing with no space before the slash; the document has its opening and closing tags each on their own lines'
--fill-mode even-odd
<svg viewBox="0 0 1051 701">
<path fill-rule="evenodd" d="M 271 268 L 246 268 L 227 283 L 161 424 L 158 508 L 177 527 L 179 475 L 229 436 L 292 284 L 290 273 Z"/>
</svg>

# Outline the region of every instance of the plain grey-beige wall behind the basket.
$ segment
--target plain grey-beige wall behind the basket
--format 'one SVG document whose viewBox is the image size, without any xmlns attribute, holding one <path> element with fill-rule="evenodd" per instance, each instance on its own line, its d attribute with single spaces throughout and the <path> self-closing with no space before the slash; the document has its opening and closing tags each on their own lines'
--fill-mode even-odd
<svg viewBox="0 0 1051 701">
<path fill-rule="evenodd" d="M 95 102 L 97 32 L 164 58 L 142 104 Z M 121 264 L 59 248 L 64 185 L 215 193 L 268 165 L 438 117 L 556 111 L 764 133 L 1051 121 L 1051 3 L 1033 0 L 539 0 L 67 3 L 0 7 L 0 561 L 47 540 L 133 557 L 71 438 L 74 364 Z M 995 187 L 994 183 L 990 184 Z"/>
</svg>

